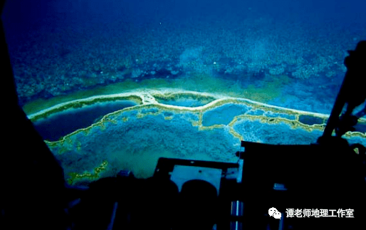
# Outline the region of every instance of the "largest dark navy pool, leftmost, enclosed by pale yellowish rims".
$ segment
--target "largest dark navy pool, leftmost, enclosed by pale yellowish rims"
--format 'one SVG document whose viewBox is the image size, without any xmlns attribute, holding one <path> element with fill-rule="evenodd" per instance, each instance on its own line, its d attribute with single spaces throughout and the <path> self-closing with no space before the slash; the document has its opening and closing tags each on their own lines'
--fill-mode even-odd
<svg viewBox="0 0 366 230">
<path fill-rule="evenodd" d="M 131 101 L 113 103 L 96 103 L 84 108 L 66 110 L 33 122 L 43 140 L 56 141 L 60 137 L 80 128 L 88 127 L 100 120 L 104 115 L 130 106 L 137 105 Z"/>
</svg>

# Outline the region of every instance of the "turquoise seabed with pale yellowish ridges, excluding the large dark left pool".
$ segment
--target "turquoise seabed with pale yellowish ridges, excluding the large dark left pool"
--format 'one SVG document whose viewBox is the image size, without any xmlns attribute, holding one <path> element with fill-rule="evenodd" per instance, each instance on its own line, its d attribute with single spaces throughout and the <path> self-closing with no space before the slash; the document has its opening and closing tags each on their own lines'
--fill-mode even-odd
<svg viewBox="0 0 366 230">
<path fill-rule="evenodd" d="M 114 176 L 121 169 L 131 170 L 137 177 L 150 177 L 159 157 L 236 162 L 241 140 L 310 144 L 322 135 L 328 119 L 320 113 L 171 88 L 71 100 L 28 117 L 44 120 L 63 110 L 117 100 L 138 104 L 108 113 L 58 141 L 46 140 L 70 184 Z M 345 136 L 350 142 L 366 144 L 364 131 Z"/>
</svg>

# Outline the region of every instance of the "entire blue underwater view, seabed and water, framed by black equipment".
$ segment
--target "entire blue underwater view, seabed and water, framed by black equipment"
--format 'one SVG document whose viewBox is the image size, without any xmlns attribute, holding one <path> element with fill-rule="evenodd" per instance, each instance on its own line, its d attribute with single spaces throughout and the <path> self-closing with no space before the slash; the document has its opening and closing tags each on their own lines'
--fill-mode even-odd
<svg viewBox="0 0 366 230">
<path fill-rule="evenodd" d="M 117 2 L 4 9 L 20 103 L 70 183 L 149 177 L 158 157 L 235 162 L 240 140 L 315 142 L 366 37 L 364 1 Z"/>
</svg>

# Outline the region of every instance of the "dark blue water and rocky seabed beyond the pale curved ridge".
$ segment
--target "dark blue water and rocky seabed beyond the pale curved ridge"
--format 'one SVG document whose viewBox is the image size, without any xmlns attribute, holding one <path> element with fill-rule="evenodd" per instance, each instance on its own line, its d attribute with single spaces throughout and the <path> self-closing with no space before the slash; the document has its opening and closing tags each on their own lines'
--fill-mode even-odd
<svg viewBox="0 0 366 230">
<path fill-rule="evenodd" d="M 366 1 L 7 1 L 21 105 L 127 79 L 235 80 L 271 105 L 330 113 Z M 197 90 L 200 90 L 197 88 Z"/>
</svg>

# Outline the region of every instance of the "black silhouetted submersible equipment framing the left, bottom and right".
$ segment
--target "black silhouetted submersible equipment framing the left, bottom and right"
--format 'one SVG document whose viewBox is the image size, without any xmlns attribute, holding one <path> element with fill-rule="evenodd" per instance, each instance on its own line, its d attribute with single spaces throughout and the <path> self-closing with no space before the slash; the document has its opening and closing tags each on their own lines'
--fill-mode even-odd
<svg viewBox="0 0 366 230">
<path fill-rule="evenodd" d="M 345 58 L 345 80 L 317 143 L 243 141 L 235 164 L 160 158 L 149 179 L 121 171 L 83 188 L 66 185 L 19 107 L 2 23 L 0 31 L 0 229 L 366 229 L 365 147 L 342 138 L 366 111 L 352 115 L 366 98 L 366 41 Z M 268 216 L 271 207 L 281 219 Z M 352 209 L 355 218 L 285 218 L 287 209 Z"/>
</svg>

